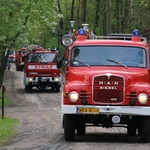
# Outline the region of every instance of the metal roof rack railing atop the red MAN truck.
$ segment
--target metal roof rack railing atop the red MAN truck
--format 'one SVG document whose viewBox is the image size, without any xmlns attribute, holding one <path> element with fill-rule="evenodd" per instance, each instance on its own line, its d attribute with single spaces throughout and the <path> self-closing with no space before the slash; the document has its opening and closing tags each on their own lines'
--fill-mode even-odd
<svg viewBox="0 0 150 150">
<path fill-rule="evenodd" d="M 132 40 L 132 34 L 122 34 L 122 33 L 110 33 L 107 36 L 96 36 L 95 39 L 109 39 L 109 40 Z M 147 44 L 147 39 L 145 37 L 140 36 L 141 41 Z"/>
</svg>

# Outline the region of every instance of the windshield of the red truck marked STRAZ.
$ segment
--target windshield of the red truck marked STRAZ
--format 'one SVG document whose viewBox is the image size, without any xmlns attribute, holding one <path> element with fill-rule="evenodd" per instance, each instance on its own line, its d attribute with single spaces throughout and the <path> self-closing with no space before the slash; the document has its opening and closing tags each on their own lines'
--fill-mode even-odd
<svg viewBox="0 0 150 150">
<path fill-rule="evenodd" d="M 52 53 L 31 53 L 28 55 L 28 62 L 56 63 L 57 54 Z"/>
</svg>

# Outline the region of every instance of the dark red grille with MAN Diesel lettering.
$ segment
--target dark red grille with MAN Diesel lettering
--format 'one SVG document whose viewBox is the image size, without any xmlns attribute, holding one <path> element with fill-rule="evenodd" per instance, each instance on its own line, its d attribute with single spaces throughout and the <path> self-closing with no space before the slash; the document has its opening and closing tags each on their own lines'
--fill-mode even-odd
<svg viewBox="0 0 150 150">
<path fill-rule="evenodd" d="M 123 102 L 124 78 L 120 76 L 96 76 L 93 80 L 93 101 L 116 104 Z"/>
</svg>

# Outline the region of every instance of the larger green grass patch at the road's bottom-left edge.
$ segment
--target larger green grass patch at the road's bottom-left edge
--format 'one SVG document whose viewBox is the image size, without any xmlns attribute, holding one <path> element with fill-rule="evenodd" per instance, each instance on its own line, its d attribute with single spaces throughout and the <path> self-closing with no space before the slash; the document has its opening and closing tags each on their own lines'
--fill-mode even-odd
<svg viewBox="0 0 150 150">
<path fill-rule="evenodd" d="M 10 142 L 15 135 L 14 127 L 19 123 L 17 119 L 4 117 L 0 119 L 0 147 Z"/>
</svg>

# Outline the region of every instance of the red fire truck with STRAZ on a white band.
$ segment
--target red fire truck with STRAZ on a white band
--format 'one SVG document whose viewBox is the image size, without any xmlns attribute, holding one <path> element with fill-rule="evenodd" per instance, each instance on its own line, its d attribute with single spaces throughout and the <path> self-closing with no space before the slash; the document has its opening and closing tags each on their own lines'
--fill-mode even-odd
<svg viewBox="0 0 150 150">
<path fill-rule="evenodd" d="M 61 87 L 61 70 L 56 66 L 59 52 L 34 47 L 24 57 L 24 85 L 30 92 L 33 87 L 50 88 L 59 92 Z"/>
</svg>

